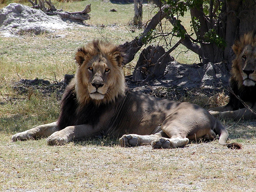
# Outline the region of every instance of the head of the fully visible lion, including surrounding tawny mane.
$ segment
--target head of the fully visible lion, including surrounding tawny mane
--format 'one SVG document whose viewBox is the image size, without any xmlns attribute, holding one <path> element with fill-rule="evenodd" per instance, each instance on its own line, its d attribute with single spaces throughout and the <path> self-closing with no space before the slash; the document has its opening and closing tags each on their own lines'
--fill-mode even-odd
<svg viewBox="0 0 256 192">
<path fill-rule="evenodd" d="M 119 47 L 93 41 L 76 53 L 76 94 L 80 103 L 114 101 L 124 94 L 125 84 Z"/>
</svg>

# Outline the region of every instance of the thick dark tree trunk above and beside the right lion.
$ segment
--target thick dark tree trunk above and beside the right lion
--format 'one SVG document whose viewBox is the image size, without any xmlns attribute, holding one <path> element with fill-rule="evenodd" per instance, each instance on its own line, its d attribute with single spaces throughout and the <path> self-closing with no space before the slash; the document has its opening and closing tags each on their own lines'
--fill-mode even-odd
<svg viewBox="0 0 256 192">
<path fill-rule="evenodd" d="M 196 17 L 199 20 L 200 28 L 196 31 L 198 39 L 204 42 L 204 34 L 210 29 L 215 29 L 218 36 L 222 37 L 227 46 L 222 49 L 216 44 L 200 43 L 201 54 L 203 63 L 207 62 L 218 63 L 224 61 L 230 69 L 232 60 L 234 59 L 234 52 L 232 45 L 235 40 L 252 30 L 256 30 L 256 1 L 255 0 L 226 0 L 223 1 L 219 19 L 214 18 L 212 15 L 210 20 L 205 19 L 202 6 L 199 9 L 190 9 L 191 17 Z M 212 14 L 210 9 L 210 15 Z M 210 21 L 210 22 L 209 22 Z"/>
</svg>

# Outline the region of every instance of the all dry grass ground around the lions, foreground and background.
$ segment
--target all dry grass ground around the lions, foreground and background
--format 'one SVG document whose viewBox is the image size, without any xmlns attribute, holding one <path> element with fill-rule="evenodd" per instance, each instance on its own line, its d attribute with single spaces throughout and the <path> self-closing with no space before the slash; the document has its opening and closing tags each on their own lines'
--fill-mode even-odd
<svg viewBox="0 0 256 192">
<path fill-rule="evenodd" d="M 10 142 L 13 133 L 55 121 L 59 114 L 56 93 L 51 96 L 36 90 L 19 93 L 13 89 L 15 82 L 36 77 L 51 83 L 61 81 L 64 74 L 75 72 L 74 54 L 79 46 L 103 37 L 122 44 L 142 31 L 135 29 L 132 33 L 126 27 L 133 15 L 132 4 L 86 0 L 59 3 L 58 8 L 79 11 L 89 3 L 92 3 L 92 19 L 88 21 L 91 27 L 77 25 L 53 34 L 0 37 L 0 190 L 255 191 L 255 121 L 223 121 L 230 142 L 243 143 L 241 150 L 222 147 L 217 140 L 167 150 L 152 150 L 150 146 L 121 148 L 117 138 L 108 137 L 65 146 L 47 146 L 45 139 Z M 112 14 L 108 12 L 110 7 L 124 10 Z M 116 26 L 108 25 L 115 21 L 118 21 Z M 100 28 L 101 24 L 106 27 Z M 188 55 L 181 56 L 179 52 L 186 50 L 179 49 L 173 53 L 179 62 L 196 62 L 194 55 L 187 52 Z M 210 99 L 203 93 L 192 98 L 189 92 L 181 98 L 201 106 L 222 104 L 226 99 L 224 92 Z"/>
</svg>

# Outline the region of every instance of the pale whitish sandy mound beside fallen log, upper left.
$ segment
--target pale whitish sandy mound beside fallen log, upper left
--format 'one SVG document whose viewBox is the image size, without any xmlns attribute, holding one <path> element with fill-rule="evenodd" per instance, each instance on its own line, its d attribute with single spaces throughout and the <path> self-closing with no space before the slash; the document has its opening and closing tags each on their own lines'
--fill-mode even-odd
<svg viewBox="0 0 256 192">
<path fill-rule="evenodd" d="M 32 32 L 39 35 L 67 28 L 68 23 L 57 16 L 48 16 L 43 11 L 26 5 L 11 3 L 0 10 L 0 35 L 17 36 Z"/>
</svg>

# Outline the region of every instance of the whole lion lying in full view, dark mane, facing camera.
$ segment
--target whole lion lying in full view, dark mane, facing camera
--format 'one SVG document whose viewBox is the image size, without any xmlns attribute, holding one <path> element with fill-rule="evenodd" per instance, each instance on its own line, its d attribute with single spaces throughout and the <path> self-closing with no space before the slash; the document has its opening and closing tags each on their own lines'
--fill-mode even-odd
<svg viewBox="0 0 256 192">
<path fill-rule="evenodd" d="M 49 145 L 106 135 L 120 137 L 120 145 L 177 148 L 189 140 L 213 140 L 229 148 L 228 131 L 206 109 L 192 103 L 156 98 L 130 91 L 123 74 L 120 46 L 94 40 L 76 52 L 78 64 L 60 103 L 56 122 L 12 136 L 12 141 L 48 137 Z"/>
</svg>

